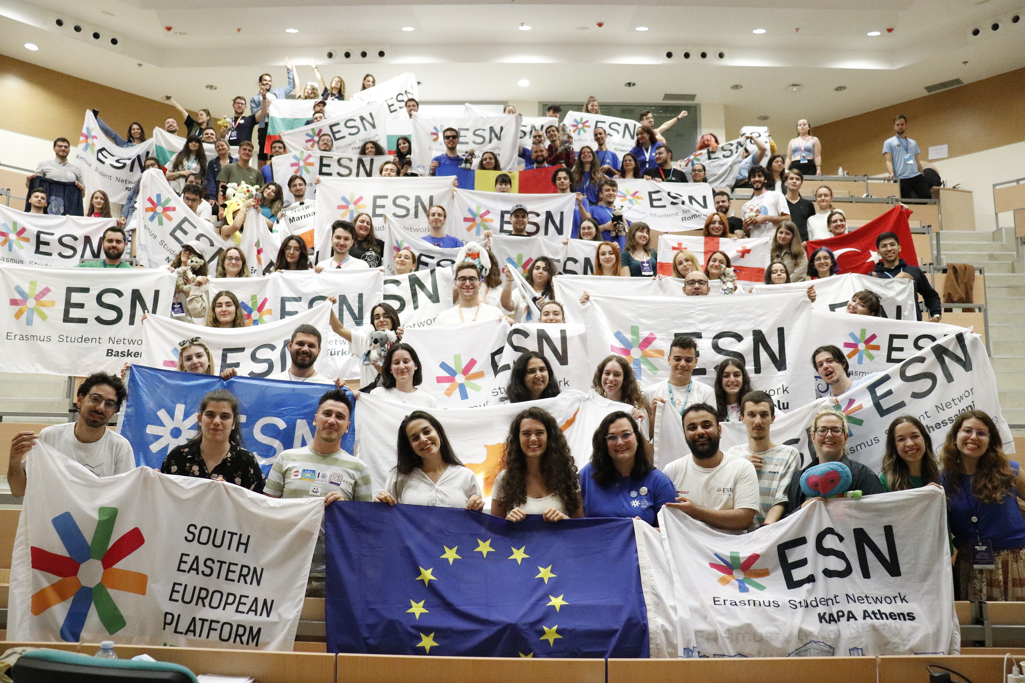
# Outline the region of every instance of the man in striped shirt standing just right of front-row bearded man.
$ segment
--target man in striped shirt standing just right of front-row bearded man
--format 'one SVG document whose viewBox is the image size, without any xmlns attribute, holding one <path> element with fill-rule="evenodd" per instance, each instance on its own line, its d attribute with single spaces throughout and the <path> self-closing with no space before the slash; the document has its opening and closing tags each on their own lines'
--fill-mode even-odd
<svg viewBox="0 0 1025 683">
<path fill-rule="evenodd" d="M 783 516 L 787 488 L 801 464 L 801 454 L 789 445 L 773 443 L 769 431 L 776 419 L 776 404 L 765 391 L 748 391 L 740 399 L 740 419 L 747 428 L 747 444 L 735 445 L 728 455 L 745 458 L 758 475 L 758 511 L 751 530 Z"/>
</svg>

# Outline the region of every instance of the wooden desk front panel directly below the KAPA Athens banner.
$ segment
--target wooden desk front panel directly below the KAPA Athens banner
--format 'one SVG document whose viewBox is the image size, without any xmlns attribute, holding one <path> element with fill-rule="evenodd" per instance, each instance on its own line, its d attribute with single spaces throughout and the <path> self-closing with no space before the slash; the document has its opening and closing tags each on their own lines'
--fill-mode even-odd
<svg viewBox="0 0 1025 683">
<path fill-rule="evenodd" d="M 921 680 L 926 678 L 928 677 Z M 975 680 L 974 677 L 972 679 Z M 879 677 L 878 680 L 888 679 Z M 652 681 L 875 683 L 875 657 L 609 659 L 608 683 L 652 683 Z M 919 682 L 916 680 L 915 683 Z"/>
</svg>

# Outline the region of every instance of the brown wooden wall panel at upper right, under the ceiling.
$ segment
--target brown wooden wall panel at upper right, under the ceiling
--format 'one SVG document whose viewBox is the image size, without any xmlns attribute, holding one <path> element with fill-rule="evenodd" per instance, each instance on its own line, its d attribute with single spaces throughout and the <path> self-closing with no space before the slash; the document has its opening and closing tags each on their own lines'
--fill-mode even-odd
<svg viewBox="0 0 1025 683">
<path fill-rule="evenodd" d="M 883 142 L 894 134 L 893 118 L 898 114 L 908 118 L 907 134 L 918 143 L 922 161 L 929 160 L 929 147 L 938 144 L 947 144 L 952 158 L 1021 142 L 1025 69 L 816 126 L 813 133 L 822 142 L 822 171 L 832 174 L 843 166 L 852 175 L 886 173 Z M 1022 175 L 1020 165 L 1018 171 Z M 1017 177 L 1014 173 L 1007 169 L 1004 179 Z"/>
</svg>

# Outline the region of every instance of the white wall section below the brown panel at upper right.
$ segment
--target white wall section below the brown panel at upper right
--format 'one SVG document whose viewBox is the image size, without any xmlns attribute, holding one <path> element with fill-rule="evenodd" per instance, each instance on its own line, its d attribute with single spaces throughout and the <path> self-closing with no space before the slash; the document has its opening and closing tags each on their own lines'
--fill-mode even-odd
<svg viewBox="0 0 1025 683">
<path fill-rule="evenodd" d="M 927 157 L 928 152 L 922 152 L 922 157 Z M 947 187 L 958 185 L 972 190 L 975 229 L 990 232 L 997 227 L 993 217 L 993 183 L 1025 176 L 1025 142 L 929 163 L 940 172 Z M 999 227 L 1014 227 L 1011 213 L 1000 214 Z"/>
</svg>

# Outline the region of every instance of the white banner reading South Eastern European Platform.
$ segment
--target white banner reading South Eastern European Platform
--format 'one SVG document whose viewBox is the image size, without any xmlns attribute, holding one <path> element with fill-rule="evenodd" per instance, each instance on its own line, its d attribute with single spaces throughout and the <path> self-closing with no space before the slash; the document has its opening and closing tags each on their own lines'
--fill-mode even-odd
<svg viewBox="0 0 1025 683">
<path fill-rule="evenodd" d="M 27 462 L 12 638 L 292 649 L 323 501 L 149 467 L 97 478 L 41 442 Z"/>
</svg>

